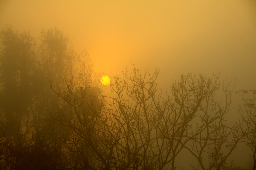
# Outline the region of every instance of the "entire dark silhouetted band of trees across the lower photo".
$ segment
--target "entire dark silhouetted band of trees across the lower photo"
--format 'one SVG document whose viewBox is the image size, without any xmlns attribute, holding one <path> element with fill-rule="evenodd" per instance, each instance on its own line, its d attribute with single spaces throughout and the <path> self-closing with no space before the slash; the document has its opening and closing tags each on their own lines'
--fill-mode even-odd
<svg viewBox="0 0 256 170">
<path fill-rule="evenodd" d="M 239 91 L 241 121 L 225 124 L 235 79 L 181 75 L 165 93 L 159 70 L 132 64 L 104 92 L 86 51 L 76 55 L 57 28 L 30 36 L 1 31 L 0 169 L 240 169 L 227 158 L 239 142 L 255 169 L 255 91 Z M 222 91 L 224 103 L 216 99 Z M 244 108 L 245 110 L 243 110 Z"/>
</svg>

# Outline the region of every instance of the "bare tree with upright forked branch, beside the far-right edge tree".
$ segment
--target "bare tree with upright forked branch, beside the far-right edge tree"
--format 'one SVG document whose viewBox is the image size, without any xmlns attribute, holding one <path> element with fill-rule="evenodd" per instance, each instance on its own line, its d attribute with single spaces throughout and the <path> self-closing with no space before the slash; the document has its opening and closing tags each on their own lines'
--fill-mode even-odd
<svg viewBox="0 0 256 170">
<path fill-rule="evenodd" d="M 223 84 L 224 104 L 221 106 L 214 98 L 214 91 L 201 103 L 200 121 L 191 128 L 191 138 L 186 149 L 198 160 L 201 169 L 226 169 L 227 157 L 232 153 L 243 135 L 239 133 L 241 123 L 227 127 L 224 116 L 229 111 L 231 94 L 236 85 L 236 80 L 231 79 L 226 85 Z M 217 84 L 216 90 L 219 88 Z M 223 149 L 226 149 L 226 151 Z M 208 165 L 206 159 L 208 157 Z M 233 166 L 233 162 L 229 168 Z M 193 169 L 196 167 L 192 166 Z"/>
</svg>

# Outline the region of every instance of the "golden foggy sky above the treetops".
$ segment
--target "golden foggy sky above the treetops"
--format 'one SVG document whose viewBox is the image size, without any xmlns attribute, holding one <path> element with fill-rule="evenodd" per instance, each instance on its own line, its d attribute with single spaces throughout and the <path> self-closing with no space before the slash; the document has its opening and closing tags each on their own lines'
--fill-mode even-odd
<svg viewBox="0 0 256 170">
<path fill-rule="evenodd" d="M 221 81 L 236 78 L 234 92 L 256 87 L 253 0 L 2 0 L 0 28 L 8 24 L 14 31 L 30 31 L 37 39 L 42 29 L 58 28 L 77 54 L 88 52 L 95 72 L 112 79 L 122 76 L 126 67 L 132 70 L 130 63 L 135 63 L 142 70 L 160 69 L 157 83 L 162 89 L 187 73 L 220 74 Z M 237 116 L 229 115 L 231 122 L 239 119 L 242 101 L 238 94 L 232 100 L 230 112 Z M 234 150 L 236 166 L 252 168 L 249 151 L 242 144 Z"/>
</svg>

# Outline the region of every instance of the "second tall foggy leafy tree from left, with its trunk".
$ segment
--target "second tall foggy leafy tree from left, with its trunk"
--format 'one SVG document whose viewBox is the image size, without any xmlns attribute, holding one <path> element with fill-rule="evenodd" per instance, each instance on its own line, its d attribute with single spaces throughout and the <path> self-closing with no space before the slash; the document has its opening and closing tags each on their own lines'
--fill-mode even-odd
<svg viewBox="0 0 256 170">
<path fill-rule="evenodd" d="M 67 45 L 68 37 L 57 28 L 41 31 L 41 44 L 37 49 L 37 59 L 42 80 L 40 82 L 42 94 L 38 100 L 41 100 L 42 110 L 36 116 L 37 125 L 40 125 L 40 120 L 48 118 L 49 113 L 54 109 L 53 102 L 57 101 L 50 83 L 58 88 L 65 79 L 72 77 L 73 60 L 76 54 Z"/>
</svg>

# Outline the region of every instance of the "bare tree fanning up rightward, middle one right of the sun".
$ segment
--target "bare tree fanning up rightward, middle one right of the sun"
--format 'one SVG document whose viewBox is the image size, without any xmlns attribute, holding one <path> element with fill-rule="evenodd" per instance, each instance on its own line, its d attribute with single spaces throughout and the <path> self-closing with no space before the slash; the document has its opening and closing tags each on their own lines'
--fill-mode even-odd
<svg viewBox="0 0 256 170">
<path fill-rule="evenodd" d="M 214 81 L 202 75 L 182 75 L 178 82 L 173 82 L 171 95 L 162 103 L 155 104 L 158 111 L 157 147 L 159 150 L 159 169 L 171 163 L 175 169 L 175 157 L 191 140 L 189 130 L 202 110 L 202 103 L 217 90 L 217 77 Z M 161 97 L 161 96 L 160 96 Z M 173 100 L 172 100 L 173 97 Z M 163 99 L 163 98 L 162 98 Z"/>
</svg>

